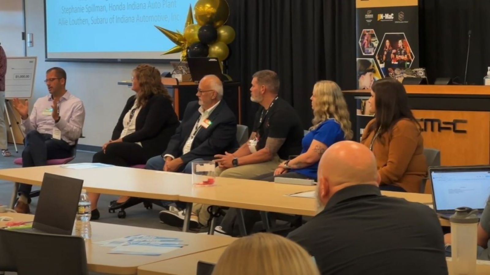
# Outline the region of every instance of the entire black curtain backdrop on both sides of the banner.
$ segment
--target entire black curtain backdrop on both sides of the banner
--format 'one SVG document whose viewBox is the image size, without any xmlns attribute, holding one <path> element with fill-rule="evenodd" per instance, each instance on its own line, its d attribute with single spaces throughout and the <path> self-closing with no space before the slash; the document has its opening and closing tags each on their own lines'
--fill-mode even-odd
<svg viewBox="0 0 490 275">
<path fill-rule="evenodd" d="M 310 96 L 316 81 L 356 88 L 355 0 L 228 0 L 236 33 L 228 73 L 242 83 L 243 124 L 252 125 L 252 74 L 271 69 L 281 79 L 280 96 L 311 125 Z M 438 77 L 463 83 L 468 30 L 472 31 L 468 84 L 483 84 L 490 66 L 490 0 L 419 0 L 420 67 L 430 83 Z M 348 102 L 348 104 L 352 104 Z"/>
</svg>

